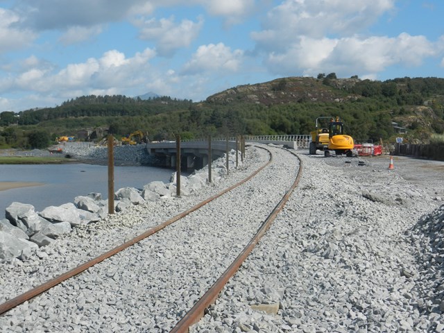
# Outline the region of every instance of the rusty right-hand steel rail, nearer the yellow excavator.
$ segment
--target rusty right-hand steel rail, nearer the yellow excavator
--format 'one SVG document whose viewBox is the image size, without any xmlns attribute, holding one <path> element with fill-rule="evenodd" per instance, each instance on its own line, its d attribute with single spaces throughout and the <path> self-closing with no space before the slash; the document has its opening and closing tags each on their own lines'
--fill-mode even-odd
<svg viewBox="0 0 444 333">
<path fill-rule="evenodd" d="M 266 230 L 270 228 L 271 223 L 275 220 L 275 217 L 282 211 L 284 208 L 284 205 L 289 200 L 289 197 L 291 196 L 291 193 L 293 192 L 293 189 L 295 189 L 298 186 L 300 177 L 302 176 L 302 160 L 296 153 L 293 153 L 289 151 L 289 153 L 292 153 L 296 157 L 298 157 L 299 160 L 299 170 L 298 175 L 296 176 L 296 180 L 293 182 L 293 185 L 291 185 L 290 189 L 287 191 L 287 193 L 282 197 L 278 205 L 275 206 L 273 211 L 268 215 L 268 217 L 265 219 L 264 223 L 260 226 L 259 230 L 257 230 L 257 233 L 253 237 L 253 239 L 250 241 L 250 243 L 247 244 L 247 246 L 239 253 L 236 259 L 234 259 L 234 262 L 228 268 L 225 270 L 225 272 L 221 275 L 221 278 L 219 278 L 210 289 L 207 290 L 207 292 L 196 302 L 194 307 L 192 307 L 185 316 L 182 317 L 180 321 L 176 324 L 175 327 L 173 327 L 173 330 L 170 331 L 170 333 L 186 333 L 189 332 L 189 327 L 193 325 L 194 323 L 197 323 L 200 321 L 200 318 L 203 317 L 205 309 L 209 307 L 219 296 L 219 293 L 221 293 L 223 287 L 225 287 L 225 284 L 227 284 L 228 280 L 232 278 L 232 276 L 237 272 L 241 264 L 245 261 L 245 259 L 248 257 L 248 255 L 251 253 L 253 248 L 255 248 L 256 244 L 259 242 L 259 240 L 264 236 Z"/>
</svg>

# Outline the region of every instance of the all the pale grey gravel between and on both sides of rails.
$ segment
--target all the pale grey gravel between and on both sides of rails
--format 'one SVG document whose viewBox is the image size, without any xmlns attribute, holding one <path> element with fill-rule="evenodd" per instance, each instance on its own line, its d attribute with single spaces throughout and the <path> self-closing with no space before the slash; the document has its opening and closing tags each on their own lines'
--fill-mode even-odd
<svg viewBox="0 0 444 333">
<path fill-rule="evenodd" d="M 169 332 L 296 177 L 296 157 L 269 148 L 273 164 L 257 178 L 8 311 L 1 331 Z M 396 160 L 388 171 L 382 157 L 362 166 L 305 154 L 289 203 L 191 331 L 444 332 L 441 180 L 421 186 L 401 176 Z M 244 164 L 216 185 L 134 206 L 2 263 L 0 302 L 187 210 L 266 160 L 268 153 L 248 148 Z"/>
</svg>

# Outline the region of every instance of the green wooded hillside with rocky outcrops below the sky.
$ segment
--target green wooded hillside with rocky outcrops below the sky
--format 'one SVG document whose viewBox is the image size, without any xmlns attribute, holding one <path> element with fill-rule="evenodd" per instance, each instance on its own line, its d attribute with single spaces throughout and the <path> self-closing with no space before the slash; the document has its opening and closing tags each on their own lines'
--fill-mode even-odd
<svg viewBox="0 0 444 333">
<path fill-rule="evenodd" d="M 372 81 L 289 77 L 232 87 L 193 103 L 161 97 L 81 96 L 56 108 L 0 112 L 0 148 L 45 148 L 56 137 L 77 139 L 80 130 L 120 138 L 141 130 L 149 140 L 212 135 L 308 134 L 314 120 L 339 116 L 357 142 L 429 143 L 444 134 L 444 79 L 396 78 Z M 394 127 L 395 126 L 395 127 Z M 400 134 L 397 130 L 407 130 Z"/>
</svg>

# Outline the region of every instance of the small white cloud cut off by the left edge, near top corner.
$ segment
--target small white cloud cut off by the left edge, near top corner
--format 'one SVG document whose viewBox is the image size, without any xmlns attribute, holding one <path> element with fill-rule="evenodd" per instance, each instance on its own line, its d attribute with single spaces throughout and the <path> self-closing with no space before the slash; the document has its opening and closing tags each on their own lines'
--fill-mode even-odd
<svg viewBox="0 0 444 333">
<path fill-rule="evenodd" d="M 19 21 L 19 15 L 11 10 L 0 8 L 0 53 L 28 46 L 37 37 L 35 33 L 26 28 L 15 27 Z"/>
</svg>

